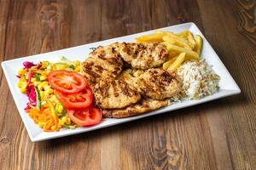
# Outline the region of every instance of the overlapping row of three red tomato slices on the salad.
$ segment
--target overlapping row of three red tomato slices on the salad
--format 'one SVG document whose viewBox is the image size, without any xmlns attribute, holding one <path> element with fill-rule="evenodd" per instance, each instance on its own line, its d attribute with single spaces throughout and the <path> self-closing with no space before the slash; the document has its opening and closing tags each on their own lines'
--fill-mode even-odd
<svg viewBox="0 0 256 170">
<path fill-rule="evenodd" d="M 51 71 L 48 81 L 74 123 L 84 127 L 101 122 L 102 111 L 93 106 L 93 94 L 83 76 L 73 71 Z"/>
</svg>

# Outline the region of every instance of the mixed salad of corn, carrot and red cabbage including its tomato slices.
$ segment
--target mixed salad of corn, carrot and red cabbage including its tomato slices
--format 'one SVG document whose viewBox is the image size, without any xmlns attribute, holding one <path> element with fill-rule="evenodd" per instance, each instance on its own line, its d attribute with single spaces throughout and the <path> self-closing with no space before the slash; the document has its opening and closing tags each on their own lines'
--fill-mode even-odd
<svg viewBox="0 0 256 170">
<path fill-rule="evenodd" d="M 102 111 L 93 105 L 92 91 L 79 74 L 79 60 L 62 57 L 57 63 L 26 61 L 23 65 L 17 86 L 29 100 L 25 111 L 45 132 L 101 122 Z"/>
</svg>

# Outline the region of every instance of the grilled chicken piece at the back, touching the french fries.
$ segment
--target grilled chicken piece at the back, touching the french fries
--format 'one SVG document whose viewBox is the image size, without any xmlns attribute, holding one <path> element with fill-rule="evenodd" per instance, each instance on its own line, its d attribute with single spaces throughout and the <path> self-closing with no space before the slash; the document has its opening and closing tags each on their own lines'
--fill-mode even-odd
<svg viewBox="0 0 256 170">
<path fill-rule="evenodd" d="M 146 70 L 159 67 L 168 59 L 166 45 L 161 43 L 116 43 L 120 56 L 132 68 Z"/>
</svg>

